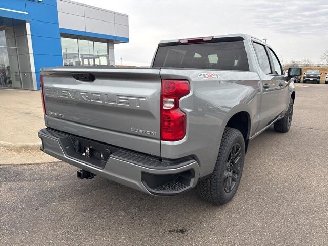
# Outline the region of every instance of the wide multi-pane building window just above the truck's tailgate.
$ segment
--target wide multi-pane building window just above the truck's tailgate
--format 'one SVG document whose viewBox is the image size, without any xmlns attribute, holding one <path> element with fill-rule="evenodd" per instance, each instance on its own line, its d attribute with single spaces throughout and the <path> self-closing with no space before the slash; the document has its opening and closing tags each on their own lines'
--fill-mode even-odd
<svg viewBox="0 0 328 246">
<path fill-rule="evenodd" d="M 65 66 L 108 65 L 107 42 L 94 39 L 61 37 Z"/>
</svg>

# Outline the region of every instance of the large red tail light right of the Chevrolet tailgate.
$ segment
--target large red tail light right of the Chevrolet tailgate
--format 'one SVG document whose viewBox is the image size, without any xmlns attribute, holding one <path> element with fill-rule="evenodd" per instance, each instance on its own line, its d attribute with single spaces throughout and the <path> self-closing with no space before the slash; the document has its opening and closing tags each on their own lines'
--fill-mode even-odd
<svg viewBox="0 0 328 246">
<path fill-rule="evenodd" d="M 180 110 L 179 100 L 188 95 L 188 80 L 162 79 L 161 140 L 178 141 L 186 135 L 186 113 Z"/>
</svg>

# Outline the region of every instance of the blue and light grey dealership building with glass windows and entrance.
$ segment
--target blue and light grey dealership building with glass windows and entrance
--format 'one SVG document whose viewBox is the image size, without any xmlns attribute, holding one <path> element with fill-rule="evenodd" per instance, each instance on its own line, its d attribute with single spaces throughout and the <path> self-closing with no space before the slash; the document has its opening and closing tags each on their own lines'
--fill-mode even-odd
<svg viewBox="0 0 328 246">
<path fill-rule="evenodd" d="M 114 65 L 128 15 L 70 0 L 0 1 L 0 90 L 38 90 L 40 68 Z"/>
</svg>

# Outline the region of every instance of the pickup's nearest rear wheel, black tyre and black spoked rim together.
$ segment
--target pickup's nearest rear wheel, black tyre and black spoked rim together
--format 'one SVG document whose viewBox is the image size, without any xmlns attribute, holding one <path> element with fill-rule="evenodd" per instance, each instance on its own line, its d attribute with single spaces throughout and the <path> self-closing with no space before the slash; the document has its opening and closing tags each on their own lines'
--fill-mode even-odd
<svg viewBox="0 0 328 246">
<path fill-rule="evenodd" d="M 198 182 L 200 197 L 214 204 L 229 202 L 240 183 L 245 160 L 245 141 L 241 132 L 226 127 L 213 173 Z"/>
</svg>

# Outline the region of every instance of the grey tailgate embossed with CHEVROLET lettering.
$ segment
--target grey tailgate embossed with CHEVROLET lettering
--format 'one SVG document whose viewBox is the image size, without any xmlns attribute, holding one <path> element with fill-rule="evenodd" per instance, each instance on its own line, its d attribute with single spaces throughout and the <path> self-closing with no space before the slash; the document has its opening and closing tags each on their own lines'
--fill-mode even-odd
<svg viewBox="0 0 328 246">
<path fill-rule="evenodd" d="M 159 72 L 141 68 L 43 69 L 46 125 L 159 156 Z M 84 75 L 94 81 L 77 77 Z"/>
</svg>

